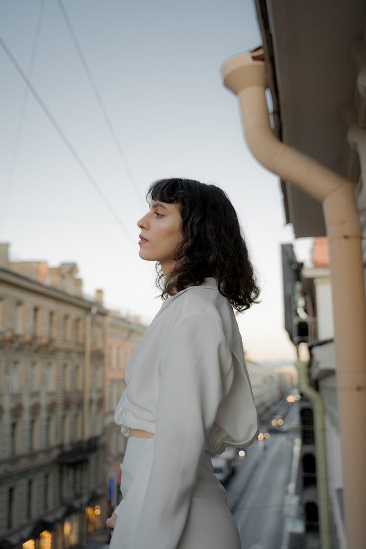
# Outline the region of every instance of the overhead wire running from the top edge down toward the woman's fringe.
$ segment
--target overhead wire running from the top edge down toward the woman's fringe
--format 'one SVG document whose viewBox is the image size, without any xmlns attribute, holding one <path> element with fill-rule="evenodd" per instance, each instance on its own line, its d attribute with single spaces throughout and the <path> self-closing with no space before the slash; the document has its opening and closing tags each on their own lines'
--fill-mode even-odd
<svg viewBox="0 0 366 549">
<path fill-rule="evenodd" d="M 106 125 L 108 126 L 108 129 L 110 131 L 110 135 L 114 141 L 114 144 L 116 145 L 116 149 L 119 153 L 119 156 L 122 160 L 122 164 L 123 166 L 125 167 L 125 170 L 126 170 L 126 173 L 128 175 L 128 178 L 129 178 L 129 181 L 130 183 L 132 184 L 132 187 L 134 189 L 134 192 L 136 193 L 136 196 L 137 196 L 137 199 L 139 200 L 139 203 L 142 205 L 143 208 L 146 207 L 146 204 L 143 202 L 139 192 L 138 192 L 138 188 L 137 188 L 137 185 L 136 185 L 136 181 L 134 180 L 134 177 L 133 177 L 133 174 L 132 174 L 132 171 L 127 163 L 127 160 L 126 160 L 126 155 L 125 153 L 123 153 L 123 149 L 121 147 L 121 144 L 119 142 L 119 139 L 117 137 L 117 134 L 116 134 L 116 131 L 115 131 L 115 128 L 112 124 L 112 121 L 108 115 L 108 112 L 105 108 L 105 105 L 104 105 L 104 102 L 103 102 L 103 99 L 102 99 L 102 95 L 100 94 L 99 92 L 99 89 L 93 79 L 93 75 L 92 75 L 92 71 L 87 63 L 87 60 L 85 58 L 85 55 L 83 54 L 83 51 L 82 51 L 82 48 L 80 46 L 80 42 L 77 40 L 77 36 L 76 36 L 76 33 L 74 31 L 74 28 L 72 27 L 71 25 L 71 21 L 70 21 L 70 18 L 69 18 L 69 15 L 67 15 L 67 12 L 66 12 L 66 9 L 65 9 L 65 6 L 62 2 L 62 0 L 57 0 L 57 3 L 59 5 L 59 8 L 60 8 L 60 11 L 61 11 L 61 14 L 63 15 L 63 18 L 65 20 L 65 23 L 66 23 L 66 26 L 67 26 L 67 29 L 69 30 L 69 33 L 70 33 L 70 36 L 72 38 L 72 42 L 74 42 L 74 46 L 76 48 L 76 51 L 77 51 L 77 54 L 80 58 L 80 61 L 81 61 L 81 64 L 83 66 L 83 69 L 85 70 L 85 74 L 87 76 L 87 79 L 89 80 L 91 86 L 92 86 L 92 89 L 93 89 L 93 92 L 94 92 L 94 95 L 95 95 L 95 98 L 97 99 L 97 102 L 98 102 L 98 105 L 100 107 L 100 110 L 102 111 L 102 114 L 103 114 L 103 117 L 104 117 L 104 120 L 105 120 L 105 123 Z"/>
</svg>

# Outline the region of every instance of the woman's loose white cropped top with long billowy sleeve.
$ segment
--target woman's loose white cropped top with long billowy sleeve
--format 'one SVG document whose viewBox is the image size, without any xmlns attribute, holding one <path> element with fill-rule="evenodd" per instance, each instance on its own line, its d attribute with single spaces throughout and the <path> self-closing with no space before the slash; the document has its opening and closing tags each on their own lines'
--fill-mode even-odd
<svg viewBox="0 0 366 549">
<path fill-rule="evenodd" d="M 248 446 L 258 434 L 238 324 L 215 278 L 163 302 L 128 361 L 125 379 L 115 422 L 125 436 L 129 428 L 155 433 L 137 528 L 141 539 L 134 546 L 172 549 L 158 539 L 170 528 L 167 515 L 187 518 L 202 452 Z M 169 451 L 177 447 L 189 451 Z M 183 528 L 184 522 L 180 532 L 174 528 L 177 543 Z"/>
</svg>

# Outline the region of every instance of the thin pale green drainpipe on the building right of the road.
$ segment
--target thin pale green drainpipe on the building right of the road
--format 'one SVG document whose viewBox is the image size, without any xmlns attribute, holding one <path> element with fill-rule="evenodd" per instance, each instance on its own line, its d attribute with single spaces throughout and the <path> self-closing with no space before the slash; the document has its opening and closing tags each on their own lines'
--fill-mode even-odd
<svg viewBox="0 0 366 549">
<path fill-rule="evenodd" d="M 318 391 L 309 385 L 307 373 L 308 365 L 309 362 L 301 361 L 297 361 L 295 364 L 297 372 L 299 372 L 299 385 L 301 393 L 303 393 L 309 401 L 312 402 L 314 410 L 314 439 L 317 464 L 317 500 L 320 523 L 320 547 L 322 547 L 322 549 L 331 549 L 324 405 L 322 397 L 320 397 Z"/>
</svg>

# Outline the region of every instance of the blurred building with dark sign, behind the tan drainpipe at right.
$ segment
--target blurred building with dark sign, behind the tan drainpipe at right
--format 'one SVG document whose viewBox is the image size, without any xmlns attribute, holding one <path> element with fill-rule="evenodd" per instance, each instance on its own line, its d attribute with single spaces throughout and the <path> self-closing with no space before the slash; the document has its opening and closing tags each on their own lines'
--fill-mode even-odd
<svg viewBox="0 0 366 549">
<path fill-rule="evenodd" d="M 299 355 L 305 345 L 306 358 L 310 359 L 303 363 L 300 376 L 302 446 L 298 488 L 303 534 L 307 546 L 319 545 L 320 506 L 326 506 L 328 512 L 330 505 L 331 547 L 345 547 L 339 545 L 339 538 L 345 539 L 345 531 L 344 520 L 339 521 L 342 516 L 339 507 L 342 505 L 341 451 L 327 240 L 324 237 L 314 240 L 311 267 L 305 268 L 297 261 L 292 244 L 282 245 L 282 257 L 286 329 Z M 322 466 L 325 483 L 320 483 L 317 475 L 317 469 Z M 330 474 L 331 470 L 336 475 Z M 320 498 L 321 494 L 325 496 Z"/>
</svg>

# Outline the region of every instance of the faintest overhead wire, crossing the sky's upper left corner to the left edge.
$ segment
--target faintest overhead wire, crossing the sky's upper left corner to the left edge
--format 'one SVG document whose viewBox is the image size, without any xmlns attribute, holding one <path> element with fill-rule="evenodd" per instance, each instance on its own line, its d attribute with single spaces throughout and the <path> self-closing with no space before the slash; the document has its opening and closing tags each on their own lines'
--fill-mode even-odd
<svg viewBox="0 0 366 549">
<path fill-rule="evenodd" d="M 41 2 L 40 2 L 40 10 L 38 12 L 36 32 L 35 32 L 35 36 L 33 38 L 31 58 L 30 58 L 29 69 L 28 69 L 28 74 L 27 74 L 27 78 L 29 79 L 29 81 L 32 80 L 32 76 L 33 76 L 33 69 L 34 69 L 35 60 L 36 60 L 38 40 L 39 40 L 40 34 L 41 34 L 41 26 L 42 26 L 44 3 L 45 2 L 46 2 L 46 0 L 41 0 Z M 12 154 L 12 158 L 10 159 L 9 177 L 8 177 L 7 185 L 5 186 L 5 193 L 4 193 L 4 197 L 3 197 L 2 215 L 0 216 L 0 223 L 4 222 L 5 213 L 6 213 L 7 206 L 8 206 L 9 192 L 10 192 L 10 188 L 12 187 L 12 184 L 14 182 L 15 165 L 16 165 L 16 160 L 18 159 L 18 154 L 19 154 L 20 138 L 21 138 L 21 132 L 22 132 L 24 119 L 25 119 L 25 111 L 26 111 L 26 107 L 27 107 L 28 97 L 29 97 L 29 88 L 26 86 L 25 89 L 24 89 L 24 95 L 23 95 L 22 104 L 21 104 L 21 108 L 20 108 L 20 117 L 19 117 L 19 121 L 18 121 L 18 127 L 16 128 L 13 154 Z"/>
</svg>

